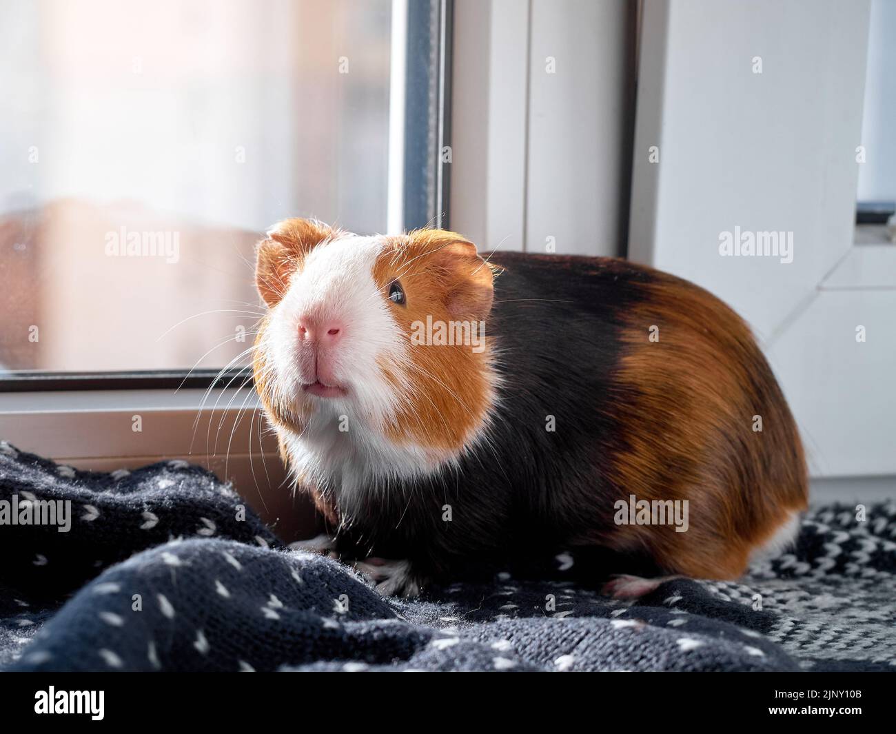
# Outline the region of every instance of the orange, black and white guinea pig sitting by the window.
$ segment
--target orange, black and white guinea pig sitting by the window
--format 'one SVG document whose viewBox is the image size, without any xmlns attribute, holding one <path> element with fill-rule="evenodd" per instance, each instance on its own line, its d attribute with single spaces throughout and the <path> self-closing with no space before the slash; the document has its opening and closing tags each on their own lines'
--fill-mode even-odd
<svg viewBox="0 0 896 734">
<path fill-rule="evenodd" d="M 383 593 L 577 548 L 734 579 L 797 530 L 788 405 L 744 321 L 690 282 L 303 219 L 268 232 L 255 274 L 254 384 L 326 523 L 311 546 Z"/>
</svg>

